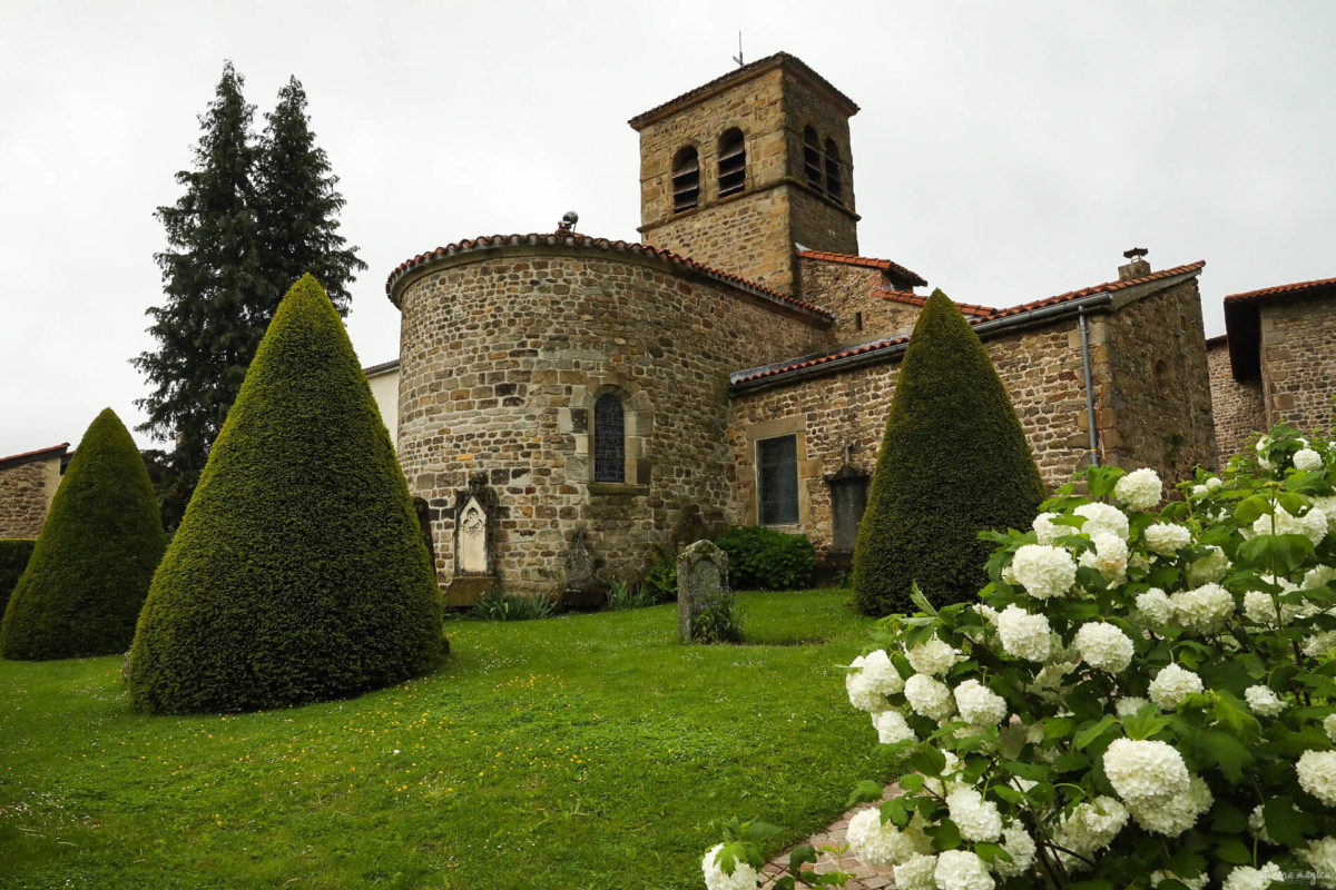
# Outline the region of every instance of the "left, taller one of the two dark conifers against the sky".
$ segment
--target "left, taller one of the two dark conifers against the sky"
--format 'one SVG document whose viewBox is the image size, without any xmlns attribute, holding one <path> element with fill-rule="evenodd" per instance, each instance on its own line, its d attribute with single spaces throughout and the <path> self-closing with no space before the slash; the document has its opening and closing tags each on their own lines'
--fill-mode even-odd
<svg viewBox="0 0 1336 890">
<path fill-rule="evenodd" d="M 138 428 L 174 442 L 159 488 L 170 526 L 184 511 L 269 322 L 255 216 L 255 107 L 246 104 L 243 85 L 226 63 L 199 119 L 195 169 L 176 173 L 186 191 L 171 207 L 158 208 L 168 250 L 154 259 L 167 302 L 148 310 L 158 350 L 131 359 L 154 387 L 135 402 L 148 415 Z"/>
</svg>

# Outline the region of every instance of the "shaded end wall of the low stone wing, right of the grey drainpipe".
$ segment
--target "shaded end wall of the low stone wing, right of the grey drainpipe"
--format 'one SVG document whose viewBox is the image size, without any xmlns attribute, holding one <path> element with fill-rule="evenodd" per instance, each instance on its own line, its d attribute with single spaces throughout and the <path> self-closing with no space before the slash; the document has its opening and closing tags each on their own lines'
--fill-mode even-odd
<svg viewBox="0 0 1336 890">
<path fill-rule="evenodd" d="M 1105 459 L 1125 470 L 1153 467 L 1166 483 L 1194 466 L 1217 466 L 1210 375 L 1197 279 L 1121 306 L 1108 324 L 1100 360 L 1112 379 L 1102 403 Z"/>
</svg>

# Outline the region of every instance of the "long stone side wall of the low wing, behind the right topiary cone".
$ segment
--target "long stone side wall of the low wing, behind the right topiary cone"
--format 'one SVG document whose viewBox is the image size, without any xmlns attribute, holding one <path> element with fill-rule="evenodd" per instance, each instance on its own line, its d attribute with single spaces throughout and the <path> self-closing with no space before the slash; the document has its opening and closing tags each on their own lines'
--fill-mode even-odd
<svg viewBox="0 0 1336 890">
<path fill-rule="evenodd" d="M 1088 459 L 1081 344 L 1074 335 L 1075 323 L 1063 320 L 986 342 L 1050 488 Z M 806 532 L 828 552 L 832 516 L 826 476 L 842 467 L 846 448 L 850 464 L 871 475 L 898 376 L 896 360 L 735 395 L 729 443 L 737 462 L 737 499 L 729 522 L 756 522 L 755 442 L 795 432 L 800 523 L 792 531 Z"/>
</svg>

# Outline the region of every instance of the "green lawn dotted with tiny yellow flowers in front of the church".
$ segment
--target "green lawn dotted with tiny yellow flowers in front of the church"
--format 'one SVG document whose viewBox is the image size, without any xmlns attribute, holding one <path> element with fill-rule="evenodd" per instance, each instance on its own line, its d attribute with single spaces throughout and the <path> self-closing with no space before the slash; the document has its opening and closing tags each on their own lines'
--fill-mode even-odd
<svg viewBox="0 0 1336 890">
<path fill-rule="evenodd" d="M 891 774 L 847 600 L 743 594 L 741 646 L 676 606 L 450 622 L 429 677 L 227 717 L 132 713 L 119 656 L 0 662 L 0 887 L 697 889 L 711 821 L 779 849 Z"/>
</svg>

